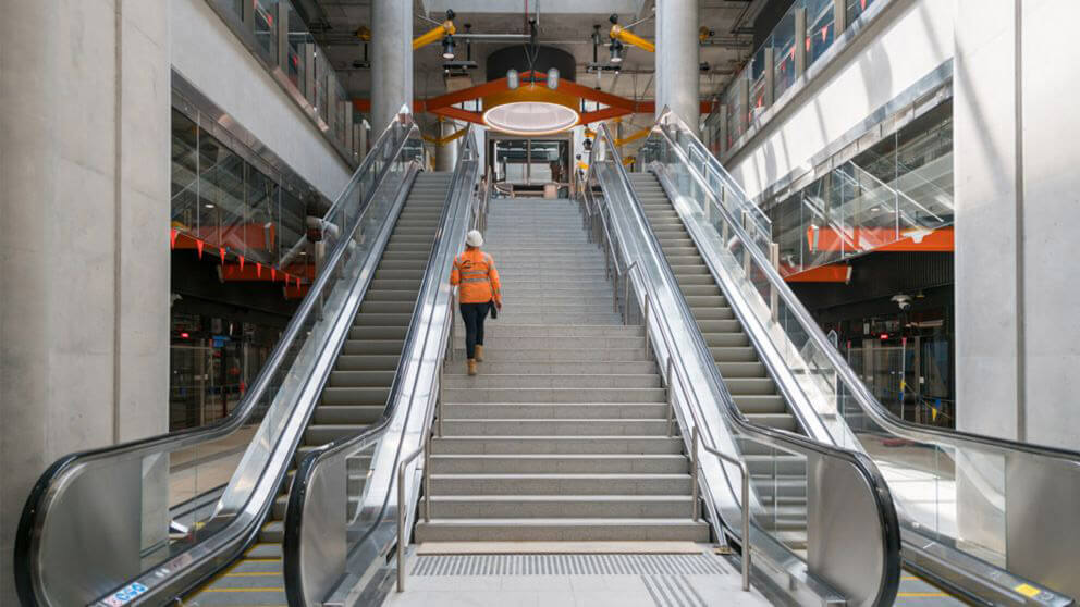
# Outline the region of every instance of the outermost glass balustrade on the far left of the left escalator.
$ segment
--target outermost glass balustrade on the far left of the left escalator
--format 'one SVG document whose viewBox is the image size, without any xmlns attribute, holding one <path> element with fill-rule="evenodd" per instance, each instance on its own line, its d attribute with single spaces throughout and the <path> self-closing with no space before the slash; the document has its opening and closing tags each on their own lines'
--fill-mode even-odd
<svg viewBox="0 0 1080 607">
<path fill-rule="evenodd" d="M 72 454 L 42 474 L 16 533 L 24 605 L 164 603 L 238 554 L 284 478 L 314 407 L 315 371 L 352 324 L 366 288 L 358 277 L 378 263 L 388 212 L 420 149 L 403 108 L 323 218 L 339 230 L 323 231 L 322 272 L 228 417 Z"/>
</svg>

